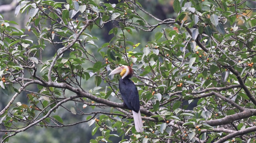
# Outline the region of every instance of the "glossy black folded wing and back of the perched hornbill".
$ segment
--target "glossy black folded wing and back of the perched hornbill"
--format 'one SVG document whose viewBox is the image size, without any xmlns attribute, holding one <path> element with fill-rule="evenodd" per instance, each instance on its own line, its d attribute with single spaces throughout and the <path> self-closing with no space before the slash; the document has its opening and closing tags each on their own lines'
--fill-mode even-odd
<svg viewBox="0 0 256 143">
<path fill-rule="evenodd" d="M 140 110 L 138 89 L 128 78 L 119 79 L 119 90 L 127 107 L 135 112 Z"/>
</svg>

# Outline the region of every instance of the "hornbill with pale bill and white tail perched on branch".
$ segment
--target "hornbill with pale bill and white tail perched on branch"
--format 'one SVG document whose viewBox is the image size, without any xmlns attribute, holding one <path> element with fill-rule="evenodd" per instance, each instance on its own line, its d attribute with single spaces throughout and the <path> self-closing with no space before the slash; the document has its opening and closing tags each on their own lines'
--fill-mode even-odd
<svg viewBox="0 0 256 143">
<path fill-rule="evenodd" d="M 122 78 L 119 79 L 119 91 L 126 105 L 132 110 L 135 129 L 137 132 L 143 132 L 143 124 L 140 115 L 140 100 L 138 95 L 138 89 L 135 84 L 130 80 L 133 70 L 129 66 L 121 66 L 113 70 L 109 75 L 120 73 Z"/>
</svg>

